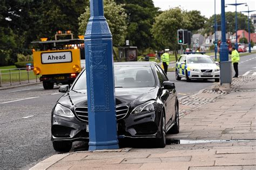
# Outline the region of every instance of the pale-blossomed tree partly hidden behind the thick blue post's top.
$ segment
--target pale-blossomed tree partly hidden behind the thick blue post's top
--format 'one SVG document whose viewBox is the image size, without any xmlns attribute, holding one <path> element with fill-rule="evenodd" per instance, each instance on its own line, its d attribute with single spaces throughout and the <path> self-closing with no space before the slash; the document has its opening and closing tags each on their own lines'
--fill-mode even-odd
<svg viewBox="0 0 256 170">
<path fill-rule="evenodd" d="M 113 10 L 114 9 L 114 10 Z M 109 24 L 110 31 L 113 35 L 113 45 L 120 46 L 125 42 L 127 23 L 126 13 L 123 5 L 117 5 L 113 0 L 104 1 L 104 16 Z M 87 22 L 90 18 L 90 9 L 87 7 L 85 12 L 80 15 L 79 20 L 79 33 L 84 35 Z"/>
</svg>

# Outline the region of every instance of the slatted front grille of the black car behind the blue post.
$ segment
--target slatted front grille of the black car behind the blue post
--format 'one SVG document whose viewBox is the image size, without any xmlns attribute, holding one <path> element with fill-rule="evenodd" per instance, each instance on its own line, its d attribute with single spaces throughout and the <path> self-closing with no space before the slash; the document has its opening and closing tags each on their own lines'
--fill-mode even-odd
<svg viewBox="0 0 256 170">
<path fill-rule="evenodd" d="M 116 107 L 117 120 L 123 119 L 128 113 L 128 111 L 129 111 L 128 106 L 117 106 Z M 75 113 L 79 120 L 88 122 L 88 107 L 76 107 Z"/>
</svg>

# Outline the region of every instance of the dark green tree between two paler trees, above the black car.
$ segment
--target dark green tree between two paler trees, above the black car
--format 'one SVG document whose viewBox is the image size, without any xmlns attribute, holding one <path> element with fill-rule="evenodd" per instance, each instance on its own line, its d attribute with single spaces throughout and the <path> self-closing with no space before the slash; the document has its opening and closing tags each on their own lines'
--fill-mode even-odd
<svg viewBox="0 0 256 170">
<path fill-rule="evenodd" d="M 158 14 L 158 8 L 154 7 L 152 0 L 116 0 L 117 4 L 125 4 L 128 15 L 127 36 L 130 45 L 137 46 L 139 51 L 154 47 L 155 42 L 151 33 L 154 17 Z"/>
</svg>

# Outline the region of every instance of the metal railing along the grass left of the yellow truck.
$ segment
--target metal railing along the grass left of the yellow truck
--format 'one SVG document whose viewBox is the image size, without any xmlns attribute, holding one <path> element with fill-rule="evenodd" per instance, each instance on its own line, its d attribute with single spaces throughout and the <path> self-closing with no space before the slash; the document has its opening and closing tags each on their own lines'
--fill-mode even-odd
<svg viewBox="0 0 256 170">
<path fill-rule="evenodd" d="M 38 82 L 38 76 L 33 73 L 33 67 L 0 70 L 0 87 L 35 82 Z"/>
</svg>

